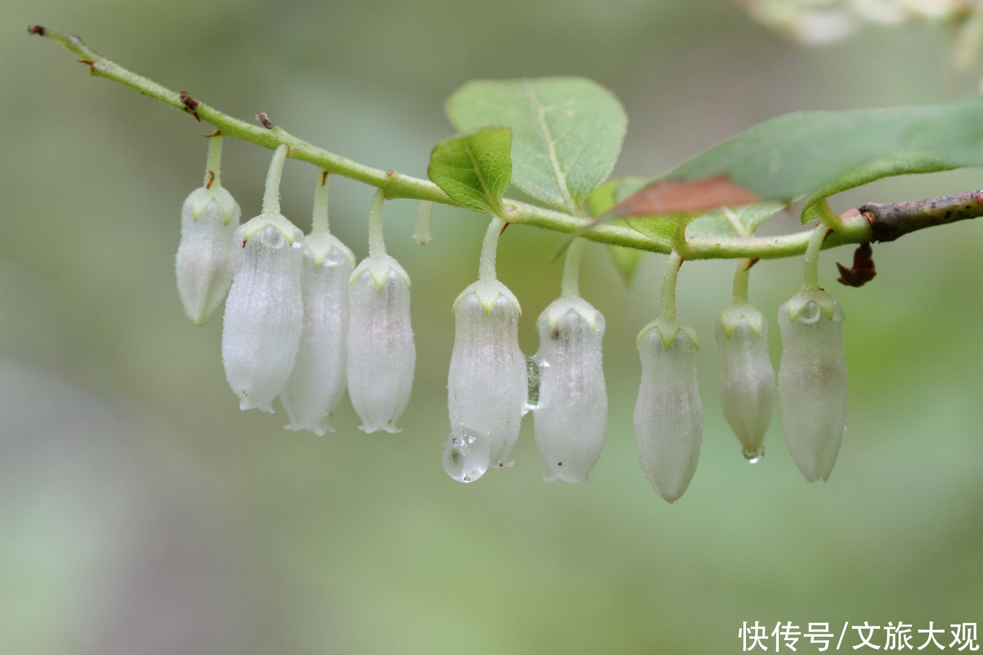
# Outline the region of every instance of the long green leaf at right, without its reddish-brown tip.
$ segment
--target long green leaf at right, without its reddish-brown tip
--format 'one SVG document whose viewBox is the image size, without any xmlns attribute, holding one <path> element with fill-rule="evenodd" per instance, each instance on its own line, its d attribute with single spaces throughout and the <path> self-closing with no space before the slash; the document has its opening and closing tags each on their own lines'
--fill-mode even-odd
<svg viewBox="0 0 983 655">
<path fill-rule="evenodd" d="M 908 173 L 983 165 L 983 100 L 801 112 L 766 121 L 657 181 L 722 178 L 762 200 L 809 202 Z"/>
</svg>

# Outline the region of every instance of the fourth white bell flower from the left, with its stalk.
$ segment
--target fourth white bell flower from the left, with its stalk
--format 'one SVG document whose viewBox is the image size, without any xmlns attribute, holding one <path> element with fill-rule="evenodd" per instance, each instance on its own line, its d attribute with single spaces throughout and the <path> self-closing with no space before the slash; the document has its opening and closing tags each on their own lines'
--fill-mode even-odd
<svg viewBox="0 0 983 655">
<path fill-rule="evenodd" d="M 396 419 L 410 402 L 417 352 L 410 324 L 410 278 L 385 253 L 382 201 L 369 212 L 369 256 L 348 283 L 348 396 L 360 430 L 399 432 Z"/>
</svg>

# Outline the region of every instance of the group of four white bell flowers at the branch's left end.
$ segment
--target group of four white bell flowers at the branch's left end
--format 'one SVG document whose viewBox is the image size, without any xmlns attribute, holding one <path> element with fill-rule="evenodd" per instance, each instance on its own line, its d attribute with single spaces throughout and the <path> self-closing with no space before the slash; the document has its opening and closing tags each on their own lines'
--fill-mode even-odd
<svg viewBox="0 0 983 655">
<path fill-rule="evenodd" d="M 196 325 L 228 295 L 222 361 L 240 409 L 271 412 L 279 396 L 288 429 L 323 435 L 333 431 L 347 382 L 363 430 L 398 432 L 416 351 L 410 280 L 382 242 L 382 191 L 373 199 L 369 256 L 356 267 L 328 231 L 326 173 L 310 235 L 280 213 L 286 145 L 273 155 L 260 215 L 239 225 L 239 206 L 219 181 L 220 138 L 211 142 L 205 188 L 185 201 L 176 270 Z"/>
</svg>

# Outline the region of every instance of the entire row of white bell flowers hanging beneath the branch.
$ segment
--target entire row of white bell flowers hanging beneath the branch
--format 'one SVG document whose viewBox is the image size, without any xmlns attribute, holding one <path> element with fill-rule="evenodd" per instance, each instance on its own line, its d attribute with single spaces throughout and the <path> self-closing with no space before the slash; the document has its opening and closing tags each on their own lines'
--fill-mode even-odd
<svg viewBox="0 0 983 655">
<path fill-rule="evenodd" d="M 398 432 L 413 387 L 416 350 L 410 324 L 410 279 L 386 254 L 383 191 L 369 214 L 369 256 L 358 266 L 327 222 L 327 173 L 318 176 L 314 220 L 305 236 L 280 213 L 279 186 L 287 146 L 275 151 L 262 211 L 239 225 L 239 207 L 221 187 L 220 137 L 211 141 L 205 186 L 182 210 L 176 262 L 178 290 L 201 325 L 226 297 L 222 359 L 241 409 L 272 411 L 279 397 L 291 430 L 333 431 L 332 412 L 347 387 L 365 432 Z M 421 213 L 426 231 L 429 207 Z M 586 480 L 607 429 L 602 342 L 605 318 L 580 298 L 578 274 L 586 242 L 569 246 L 560 297 L 537 320 L 540 348 L 519 348 L 521 307 L 495 276 L 498 236 L 492 218 L 478 281 L 454 301 L 455 335 L 447 375 L 450 435 L 447 473 L 462 482 L 511 464 L 522 417 L 533 411 L 546 479 Z M 419 235 L 418 235 L 419 236 Z M 792 458 L 809 480 L 827 479 L 845 428 L 843 313 L 816 284 L 817 230 L 806 256 L 803 289 L 781 305 L 779 370 L 782 428 Z M 421 239 L 420 241 L 424 241 Z M 668 502 L 696 471 L 703 433 L 696 332 L 675 315 L 673 253 L 660 317 L 638 335 L 641 384 L 634 411 L 639 459 Z M 768 325 L 747 300 L 747 269 L 738 264 L 734 300 L 717 321 L 723 414 L 745 458 L 758 461 L 775 405 Z"/>
</svg>

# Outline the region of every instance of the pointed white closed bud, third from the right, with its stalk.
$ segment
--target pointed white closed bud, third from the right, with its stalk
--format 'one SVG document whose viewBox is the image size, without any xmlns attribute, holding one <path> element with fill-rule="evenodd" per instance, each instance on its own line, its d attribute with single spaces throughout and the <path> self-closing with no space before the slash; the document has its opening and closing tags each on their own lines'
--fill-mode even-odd
<svg viewBox="0 0 983 655">
<path fill-rule="evenodd" d="M 703 439 L 703 403 L 696 377 L 696 332 L 675 317 L 675 279 L 681 264 L 673 252 L 665 268 L 660 318 L 638 335 L 642 383 L 635 404 L 638 457 L 649 482 L 675 502 L 696 472 Z"/>
</svg>

